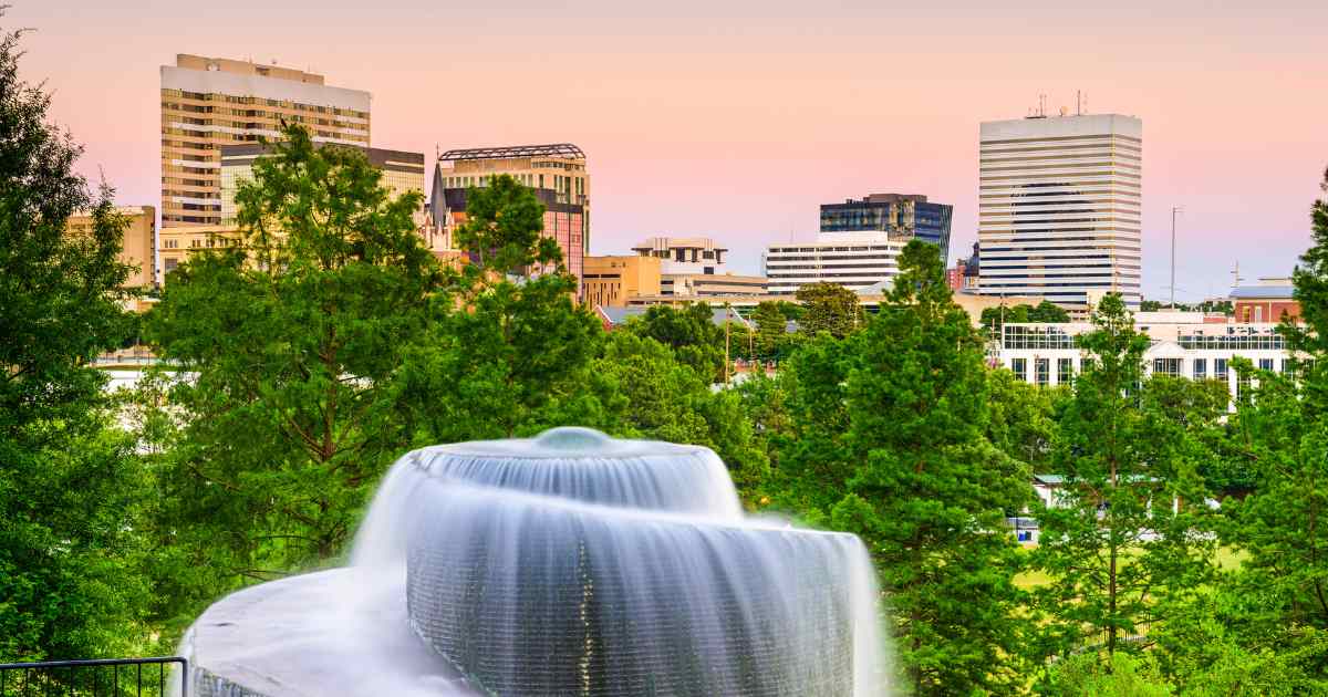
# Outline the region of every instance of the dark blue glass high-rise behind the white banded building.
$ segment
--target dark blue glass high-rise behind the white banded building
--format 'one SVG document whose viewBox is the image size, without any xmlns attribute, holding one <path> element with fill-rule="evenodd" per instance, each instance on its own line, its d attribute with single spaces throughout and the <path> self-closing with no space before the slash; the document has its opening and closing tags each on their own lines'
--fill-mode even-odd
<svg viewBox="0 0 1328 697">
<path fill-rule="evenodd" d="M 822 232 L 886 232 L 891 239 L 918 238 L 950 259 L 954 206 L 931 203 L 919 194 L 870 194 L 861 200 L 821 204 Z"/>
</svg>

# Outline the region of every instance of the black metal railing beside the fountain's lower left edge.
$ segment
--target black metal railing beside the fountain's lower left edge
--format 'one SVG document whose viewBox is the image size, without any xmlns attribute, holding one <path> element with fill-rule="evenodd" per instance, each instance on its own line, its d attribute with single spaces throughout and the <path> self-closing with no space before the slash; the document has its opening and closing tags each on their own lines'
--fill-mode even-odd
<svg viewBox="0 0 1328 697">
<path fill-rule="evenodd" d="M 178 664 L 178 677 L 170 674 Z M 179 697 L 189 697 L 189 661 L 159 658 L 106 658 L 0 664 L 0 697 L 165 697 L 179 680 Z"/>
</svg>

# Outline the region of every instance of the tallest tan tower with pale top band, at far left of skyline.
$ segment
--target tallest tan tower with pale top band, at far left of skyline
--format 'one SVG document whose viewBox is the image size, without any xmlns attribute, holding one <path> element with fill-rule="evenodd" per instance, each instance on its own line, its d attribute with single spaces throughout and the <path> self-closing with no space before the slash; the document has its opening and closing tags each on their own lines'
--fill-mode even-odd
<svg viewBox="0 0 1328 697">
<path fill-rule="evenodd" d="M 220 147 L 301 123 L 313 141 L 369 145 L 369 93 L 323 76 L 179 54 L 161 68 L 162 227 L 222 223 Z"/>
</svg>

